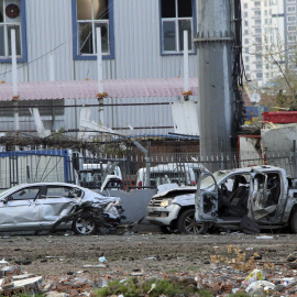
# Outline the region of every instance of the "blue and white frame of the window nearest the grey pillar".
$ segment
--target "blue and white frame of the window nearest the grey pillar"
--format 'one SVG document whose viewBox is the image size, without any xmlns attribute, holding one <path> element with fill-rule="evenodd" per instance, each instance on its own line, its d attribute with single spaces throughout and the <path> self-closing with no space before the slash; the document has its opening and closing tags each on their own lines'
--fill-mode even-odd
<svg viewBox="0 0 297 297">
<path fill-rule="evenodd" d="M 177 1 L 183 1 L 183 0 L 177 0 Z M 189 51 L 189 55 L 196 55 L 197 54 L 197 48 L 194 43 L 195 35 L 197 33 L 197 11 L 196 11 L 196 1 L 191 1 L 191 7 L 193 7 L 193 18 L 191 18 L 191 23 L 193 23 L 193 50 Z M 169 56 L 169 55 L 184 55 L 184 51 L 182 52 L 166 52 L 163 50 L 163 18 L 162 18 L 162 0 L 158 0 L 158 13 L 160 13 L 160 52 L 162 56 Z M 189 18 L 166 18 L 170 20 L 184 20 L 184 19 L 189 19 Z M 177 36 L 175 37 L 177 38 Z"/>
</svg>

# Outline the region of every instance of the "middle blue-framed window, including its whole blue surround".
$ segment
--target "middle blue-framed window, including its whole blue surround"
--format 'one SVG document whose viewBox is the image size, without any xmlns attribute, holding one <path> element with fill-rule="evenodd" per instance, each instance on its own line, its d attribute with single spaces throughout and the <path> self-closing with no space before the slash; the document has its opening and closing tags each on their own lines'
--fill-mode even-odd
<svg viewBox="0 0 297 297">
<path fill-rule="evenodd" d="M 102 57 L 113 58 L 113 0 L 73 0 L 74 58 L 96 59 L 96 29 L 101 29 Z"/>
</svg>

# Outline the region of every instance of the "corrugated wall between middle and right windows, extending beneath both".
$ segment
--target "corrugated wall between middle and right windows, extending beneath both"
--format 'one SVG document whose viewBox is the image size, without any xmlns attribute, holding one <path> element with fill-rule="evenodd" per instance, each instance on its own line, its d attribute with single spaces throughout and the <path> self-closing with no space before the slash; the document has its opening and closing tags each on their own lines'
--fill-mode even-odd
<svg viewBox="0 0 297 297">
<path fill-rule="evenodd" d="M 103 61 L 105 79 L 184 76 L 183 55 L 162 55 L 160 0 L 114 0 L 113 61 Z M 197 76 L 197 55 L 189 56 L 190 76 Z M 76 79 L 97 79 L 95 61 L 75 62 Z"/>
</svg>

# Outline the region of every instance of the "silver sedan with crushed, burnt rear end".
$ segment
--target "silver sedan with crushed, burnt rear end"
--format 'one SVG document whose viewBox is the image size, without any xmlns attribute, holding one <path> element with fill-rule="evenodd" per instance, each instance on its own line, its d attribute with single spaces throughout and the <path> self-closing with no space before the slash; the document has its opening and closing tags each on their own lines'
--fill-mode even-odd
<svg viewBox="0 0 297 297">
<path fill-rule="evenodd" d="M 35 183 L 0 194 L 0 232 L 72 229 L 92 234 L 100 226 L 117 226 L 121 199 L 65 183 Z"/>
</svg>

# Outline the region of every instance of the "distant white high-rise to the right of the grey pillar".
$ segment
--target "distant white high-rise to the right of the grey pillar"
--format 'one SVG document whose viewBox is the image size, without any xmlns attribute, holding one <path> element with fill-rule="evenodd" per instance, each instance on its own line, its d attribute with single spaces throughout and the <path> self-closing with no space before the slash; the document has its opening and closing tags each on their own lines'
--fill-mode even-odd
<svg viewBox="0 0 297 297">
<path fill-rule="evenodd" d="M 279 65 L 296 64 L 296 0 L 242 0 L 243 56 L 249 78 L 264 86 Z"/>
</svg>

